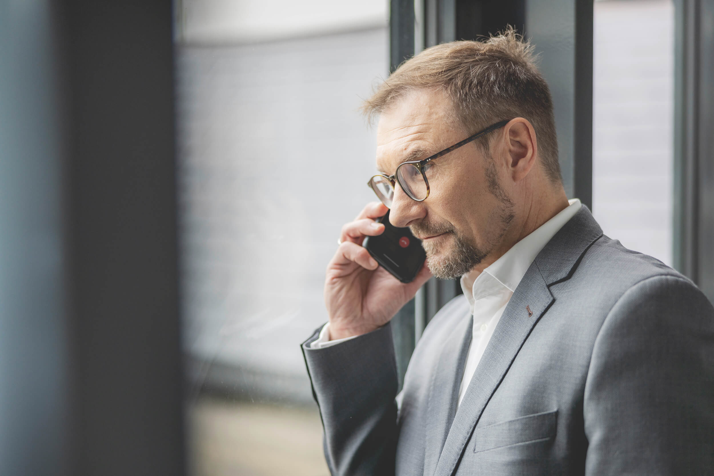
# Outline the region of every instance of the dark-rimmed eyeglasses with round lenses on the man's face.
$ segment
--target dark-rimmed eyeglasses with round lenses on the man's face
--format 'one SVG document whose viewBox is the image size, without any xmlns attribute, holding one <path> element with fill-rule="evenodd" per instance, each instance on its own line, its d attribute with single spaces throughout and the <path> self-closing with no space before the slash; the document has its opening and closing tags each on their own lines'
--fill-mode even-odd
<svg viewBox="0 0 714 476">
<path fill-rule="evenodd" d="M 407 196 L 414 201 L 423 202 L 429 196 L 429 181 L 426 179 L 426 164 L 433 161 L 435 158 L 446 155 L 451 151 L 455 151 L 461 146 L 466 146 L 467 143 L 475 141 L 477 138 L 488 134 L 491 131 L 506 126 L 508 121 L 497 122 L 483 131 L 479 131 L 473 136 L 465 138 L 463 141 L 455 143 L 453 146 L 445 148 L 441 152 L 435 153 L 433 156 L 423 158 L 421 161 L 402 162 L 397 167 L 396 173 L 393 176 L 387 176 L 384 173 L 378 173 L 367 182 L 367 185 L 376 193 L 378 198 L 384 203 L 387 208 L 392 208 L 392 200 L 394 198 L 394 182 L 396 180 Z"/>
</svg>

